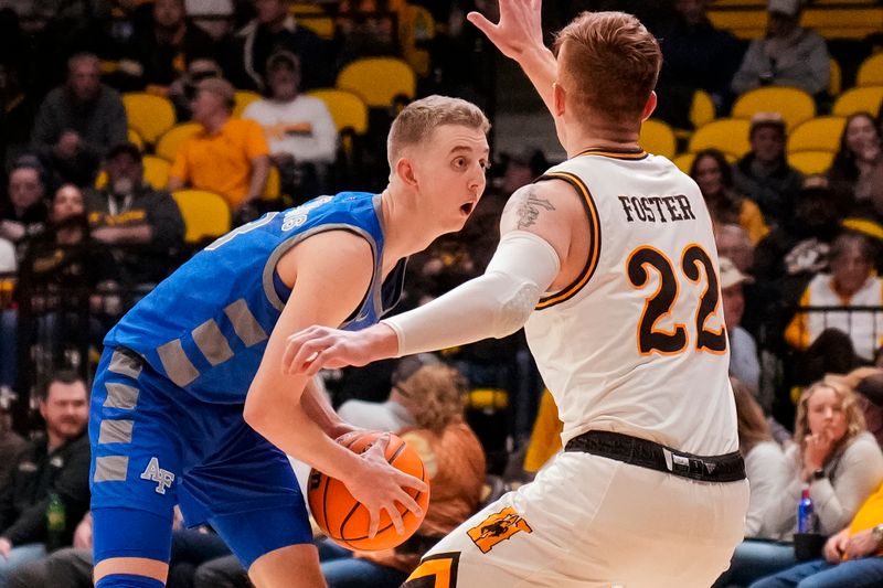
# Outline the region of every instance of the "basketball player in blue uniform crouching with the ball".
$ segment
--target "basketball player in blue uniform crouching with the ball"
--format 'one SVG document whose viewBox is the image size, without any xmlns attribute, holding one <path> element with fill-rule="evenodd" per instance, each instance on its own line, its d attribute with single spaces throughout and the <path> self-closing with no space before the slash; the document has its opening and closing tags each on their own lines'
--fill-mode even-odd
<svg viewBox="0 0 883 588">
<path fill-rule="evenodd" d="M 384 442 L 358 456 L 353 430 L 307 376 L 283 370 L 287 335 L 361 329 L 398 298 L 404 259 L 462 228 L 485 190 L 489 122 L 430 96 L 389 135 L 390 183 L 269 213 L 195 255 L 105 339 L 89 421 L 99 588 L 156 588 L 168 573 L 172 507 L 208 523 L 258 588 L 325 586 L 286 453 L 343 481 L 372 532 L 405 489 Z M 389 440 L 389 439 L 386 439 Z"/>
</svg>

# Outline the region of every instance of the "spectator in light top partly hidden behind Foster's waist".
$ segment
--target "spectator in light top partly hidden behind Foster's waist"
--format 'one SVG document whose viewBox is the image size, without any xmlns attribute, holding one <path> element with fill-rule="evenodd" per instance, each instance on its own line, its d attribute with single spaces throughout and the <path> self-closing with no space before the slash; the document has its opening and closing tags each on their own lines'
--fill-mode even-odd
<svg viewBox="0 0 883 588">
<path fill-rule="evenodd" d="M 731 377 L 730 382 L 736 400 L 738 451 L 745 460 L 745 474 L 751 485 L 745 536 L 759 538 L 764 537 L 767 507 L 770 502 L 778 500 L 778 493 L 787 483 L 784 477 L 788 466 L 752 391 L 738 378 Z"/>
</svg>

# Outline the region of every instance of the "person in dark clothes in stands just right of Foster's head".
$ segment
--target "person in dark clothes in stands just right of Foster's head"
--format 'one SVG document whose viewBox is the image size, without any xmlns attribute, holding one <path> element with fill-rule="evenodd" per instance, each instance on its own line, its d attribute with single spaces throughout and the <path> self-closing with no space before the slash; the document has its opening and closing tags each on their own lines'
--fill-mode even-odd
<svg viewBox="0 0 883 588">
<path fill-rule="evenodd" d="M 696 89 L 708 92 L 719 111 L 732 100 L 730 82 L 738 68 L 742 47 L 708 18 L 710 0 L 675 0 L 675 19 L 659 35 L 662 71 L 655 116 L 678 128 L 692 128 L 690 105 Z M 661 109 L 660 109 L 661 108 Z"/>
</svg>

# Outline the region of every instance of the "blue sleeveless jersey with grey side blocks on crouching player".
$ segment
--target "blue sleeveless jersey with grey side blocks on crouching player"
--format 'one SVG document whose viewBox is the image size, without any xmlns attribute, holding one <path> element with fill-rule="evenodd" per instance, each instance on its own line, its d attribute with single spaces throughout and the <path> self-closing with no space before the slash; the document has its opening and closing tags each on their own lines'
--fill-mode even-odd
<svg viewBox="0 0 883 588">
<path fill-rule="evenodd" d="M 105 345 L 135 351 L 203 402 L 244 403 L 290 293 L 276 275 L 276 264 L 301 240 L 323 231 L 344 229 L 364 237 L 372 247 L 371 286 L 341 328 L 373 324 L 398 300 L 404 260 L 384 288 L 380 203 L 376 194 L 342 192 L 267 213 L 227 233 L 126 313 L 105 338 Z"/>
</svg>

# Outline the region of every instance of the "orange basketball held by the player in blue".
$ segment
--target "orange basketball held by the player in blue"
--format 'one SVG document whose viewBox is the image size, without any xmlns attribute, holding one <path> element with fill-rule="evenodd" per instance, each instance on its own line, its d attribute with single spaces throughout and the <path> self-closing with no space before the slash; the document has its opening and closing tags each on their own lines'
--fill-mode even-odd
<svg viewBox="0 0 883 588">
<path fill-rule="evenodd" d="M 383 434 L 379 431 L 370 431 L 354 436 L 348 439 L 345 447 L 357 453 L 363 453 L 381 435 Z M 414 478 L 427 481 L 426 469 L 423 467 L 423 460 L 417 451 L 392 434 L 390 435 L 390 445 L 386 446 L 386 461 Z M 429 505 L 429 492 L 418 492 L 412 488 L 404 490 L 419 504 L 425 515 Z M 405 533 L 400 535 L 386 511 L 381 511 L 377 534 L 369 538 L 368 531 L 371 520 L 368 509 L 352 498 L 343 482 L 329 478 L 318 470 L 310 471 L 307 501 L 316 524 L 326 535 L 337 544 L 353 550 L 391 549 L 404 543 L 423 523 L 423 516 L 418 517 L 404 505 L 396 503 L 405 524 Z"/>
</svg>

